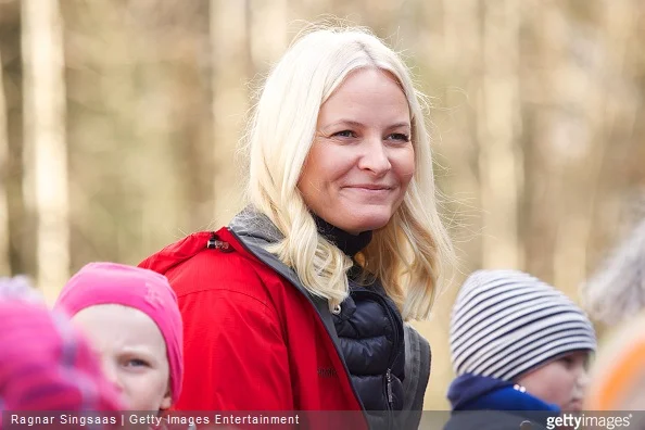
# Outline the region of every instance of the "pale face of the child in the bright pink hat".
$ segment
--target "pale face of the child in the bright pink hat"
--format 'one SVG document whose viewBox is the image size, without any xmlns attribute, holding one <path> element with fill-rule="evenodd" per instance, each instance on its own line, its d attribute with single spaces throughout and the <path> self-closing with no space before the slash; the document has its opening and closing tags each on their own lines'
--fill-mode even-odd
<svg viewBox="0 0 645 430">
<path fill-rule="evenodd" d="M 101 355 L 103 371 L 131 410 L 170 407 L 166 343 L 148 315 L 106 304 L 80 311 L 73 321 Z"/>
</svg>

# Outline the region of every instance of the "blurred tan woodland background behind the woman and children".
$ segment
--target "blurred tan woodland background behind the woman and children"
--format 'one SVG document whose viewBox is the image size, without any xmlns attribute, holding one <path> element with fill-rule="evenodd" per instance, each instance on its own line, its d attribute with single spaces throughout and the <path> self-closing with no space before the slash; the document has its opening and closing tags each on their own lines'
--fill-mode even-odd
<svg viewBox="0 0 645 430">
<path fill-rule="evenodd" d="M 430 321 L 426 408 L 447 407 L 448 316 L 473 269 L 577 299 L 645 195 L 640 0 L 0 0 L 0 276 L 50 300 L 90 261 L 137 264 L 240 208 L 251 96 L 304 25 L 403 52 L 430 96 L 461 266 Z"/>
</svg>

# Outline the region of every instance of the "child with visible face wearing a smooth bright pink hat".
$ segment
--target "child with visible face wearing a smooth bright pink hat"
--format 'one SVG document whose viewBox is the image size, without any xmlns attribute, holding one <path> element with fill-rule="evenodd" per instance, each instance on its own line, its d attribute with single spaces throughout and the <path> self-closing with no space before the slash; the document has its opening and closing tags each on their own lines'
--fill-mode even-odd
<svg viewBox="0 0 645 430">
<path fill-rule="evenodd" d="M 100 352 L 103 371 L 131 410 L 169 408 L 182 378 L 182 325 L 167 279 L 114 263 L 90 263 L 67 282 L 66 311 Z"/>
</svg>

